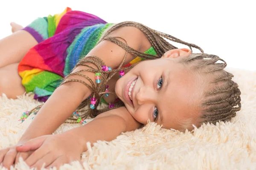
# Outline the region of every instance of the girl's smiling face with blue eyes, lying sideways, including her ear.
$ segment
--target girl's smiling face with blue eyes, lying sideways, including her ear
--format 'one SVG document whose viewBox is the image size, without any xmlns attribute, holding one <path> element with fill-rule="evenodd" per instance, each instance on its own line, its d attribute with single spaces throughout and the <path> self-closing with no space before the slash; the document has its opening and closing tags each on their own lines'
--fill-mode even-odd
<svg viewBox="0 0 256 170">
<path fill-rule="evenodd" d="M 200 89 L 195 76 L 177 62 L 178 56 L 187 56 L 189 51 L 168 52 L 160 59 L 135 65 L 116 82 L 115 92 L 138 122 L 145 125 L 149 119 L 163 128 L 179 129 L 177 119 L 182 122 L 196 116 L 195 102 L 191 101 L 197 100 Z"/>
</svg>

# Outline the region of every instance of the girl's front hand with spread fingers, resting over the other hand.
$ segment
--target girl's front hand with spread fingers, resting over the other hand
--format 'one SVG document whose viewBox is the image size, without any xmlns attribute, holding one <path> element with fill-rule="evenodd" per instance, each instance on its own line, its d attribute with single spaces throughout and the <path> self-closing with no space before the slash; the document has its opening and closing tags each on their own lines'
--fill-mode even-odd
<svg viewBox="0 0 256 170">
<path fill-rule="evenodd" d="M 46 135 L 31 139 L 22 146 L 16 147 L 19 152 L 35 150 L 26 160 L 30 167 L 41 169 L 45 167 L 60 167 L 71 161 L 81 160 L 83 146 L 78 142 L 77 136 L 67 134 Z"/>
</svg>

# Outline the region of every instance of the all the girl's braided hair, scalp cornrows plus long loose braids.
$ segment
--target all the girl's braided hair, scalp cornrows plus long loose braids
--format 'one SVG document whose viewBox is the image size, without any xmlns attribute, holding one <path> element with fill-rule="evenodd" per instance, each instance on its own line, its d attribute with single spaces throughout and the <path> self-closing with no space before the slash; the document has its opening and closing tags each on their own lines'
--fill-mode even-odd
<svg viewBox="0 0 256 170">
<path fill-rule="evenodd" d="M 136 51 L 133 48 L 129 47 L 127 43 L 124 43 L 117 39 L 121 37 L 110 36 L 111 32 L 124 26 L 133 26 L 140 29 L 150 41 L 157 55 L 154 56 L 151 54 L 145 54 L 145 53 Z M 61 85 L 67 82 L 72 82 L 72 81 L 80 82 L 86 85 L 92 91 L 91 96 L 97 99 L 95 104 L 95 108 L 97 108 L 97 106 L 99 105 L 100 98 L 105 94 L 105 86 L 108 80 L 111 79 L 111 77 L 113 77 L 116 74 L 116 72 L 120 70 L 133 68 L 133 66 L 129 66 L 127 68 L 122 67 L 126 59 L 127 53 L 131 53 L 143 59 L 158 59 L 166 51 L 177 48 L 174 45 L 170 44 L 168 41 L 166 41 L 164 38 L 166 38 L 167 40 L 171 40 L 173 42 L 178 42 L 178 43 L 187 45 L 189 46 L 191 51 L 192 51 L 192 47 L 198 48 L 198 50 L 201 51 L 200 54 L 191 54 L 188 57 L 183 57 L 180 60 L 181 63 L 188 66 L 193 71 L 198 72 L 198 75 L 204 79 L 204 83 L 203 83 L 204 86 L 202 86 L 204 93 L 200 103 L 200 108 L 201 108 L 201 114 L 200 114 L 201 117 L 199 118 L 200 124 L 198 124 L 197 126 L 200 126 L 202 123 L 206 123 L 206 122 L 215 124 L 218 121 L 229 121 L 232 117 L 236 116 L 236 111 L 239 111 L 241 109 L 241 103 L 240 103 L 241 92 L 238 88 L 237 83 L 231 80 L 231 78 L 233 77 L 233 74 L 230 74 L 227 71 L 224 71 L 224 68 L 226 67 L 227 64 L 223 59 L 220 59 L 216 55 L 204 54 L 204 51 L 195 44 L 184 42 L 171 35 L 162 33 L 160 31 L 156 31 L 154 29 L 148 28 L 147 26 L 144 26 L 141 23 L 136 23 L 132 21 L 117 23 L 111 26 L 110 28 L 106 29 L 102 37 L 100 38 L 100 40 L 97 42 L 97 44 L 99 44 L 103 40 L 108 40 L 119 45 L 121 48 L 123 48 L 126 51 L 125 56 L 123 57 L 123 60 L 118 68 L 112 69 L 112 71 L 103 72 L 101 70 L 101 66 L 105 64 L 99 57 L 86 56 L 79 61 L 76 67 L 78 67 L 79 65 L 83 65 L 88 69 L 76 71 L 74 73 L 69 74 L 67 77 L 65 77 Z M 219 60 L 224 63 L 215 63 Z M 87 65 L 87 63 L 92 63 L 96 65 L 96 69 Z M 93 73 L 99 72 L 102 77 L 102 82 L 95 86 L 93 81 L 89 77 L 83 74 L 83 72 L 85 71 L 93 72 Z M 72 78 L 73 75 L 84 77 L 90 82 L 90 85 L 87 82 L 81 81 L 79 79 L 73 79 Z M 83 114 L 80 114 L 80 117 L 82 119 L 86 119 L 87 117 L 94 118 L 100 113 L 124 106 L 124 103 L 122 101 L 118 101 L 115 104 L 114 108 L 103 108 L 103 109 L 88 109 L 90 108 L 89 105 L 90 105 L 90 99 L 85 99 L 81 103 L 81 105 L 79 105 L 79 107 L 77 108 L 77 111 L 83 113 Z M 236 107 L 237 105 L 238 107 Z M 68 122 L 77 123 L 76 119 L 73 119 L 72 117 L 68 119 Z M 190 121 L 185 121 L 182 125 L 182 127 L 184 128 L 187 128 L 189 126 L 191 126 Z"/>
</svg>

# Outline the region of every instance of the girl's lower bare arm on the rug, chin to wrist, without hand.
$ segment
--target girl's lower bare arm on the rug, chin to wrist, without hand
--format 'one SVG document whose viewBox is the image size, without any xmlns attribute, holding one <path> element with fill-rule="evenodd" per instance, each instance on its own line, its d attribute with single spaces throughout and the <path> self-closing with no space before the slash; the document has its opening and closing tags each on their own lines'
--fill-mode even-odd
<svg viewBox="0 0 256 170">
<path fill-rule="evenodd" d="M 63 135 L 78 139 L 82 150 L 86 151 L 86 142 L 93 144 L 98 140 L 112 141 L 120 133 L 135 130 L 141 125 L 125 107 L 121 107 L 102 113 L 86 125 L 68 130 Z M 69 137 L 65 138 L 68 139 Z"/>
</svg>

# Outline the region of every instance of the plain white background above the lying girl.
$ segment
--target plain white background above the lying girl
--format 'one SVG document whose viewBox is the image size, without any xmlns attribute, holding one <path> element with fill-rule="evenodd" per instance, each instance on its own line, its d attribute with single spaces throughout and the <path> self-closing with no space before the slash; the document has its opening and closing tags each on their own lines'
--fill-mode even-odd
<svg viewBox="0 0 256 170">
<path fill-rule="evenodd" d="M 37 17 L 60 13 L 67 6 L 95 14 L 108 23 L 143 23 L 194 43 L 204 53 L 218 55 L 228 67 L 256 71 L 253 0 L 0 0 L 0 38 L 11 34 L 12 21 L 26 26 Z"/>
</svg>

